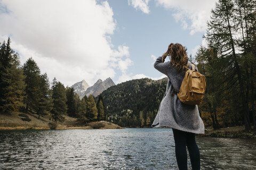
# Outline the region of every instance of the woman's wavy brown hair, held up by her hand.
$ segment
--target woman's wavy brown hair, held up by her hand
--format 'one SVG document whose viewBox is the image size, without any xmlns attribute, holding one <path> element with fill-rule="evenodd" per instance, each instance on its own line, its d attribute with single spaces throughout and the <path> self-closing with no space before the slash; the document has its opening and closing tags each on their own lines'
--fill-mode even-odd
<svg viewBox="0 0 256 170">
<path fill-rule="evenodd" d="M 183 47 L 181 44 L 171 43 L 168 47 L 168 50 L 165 54 L 162 55 L 162 58 L 165 59 L 166 56 L 170 56 L 171 65 L 176 66 L 177 71 L 186 71 L 188 64 L 188 55 L 187 48 Z"/>
</svg>

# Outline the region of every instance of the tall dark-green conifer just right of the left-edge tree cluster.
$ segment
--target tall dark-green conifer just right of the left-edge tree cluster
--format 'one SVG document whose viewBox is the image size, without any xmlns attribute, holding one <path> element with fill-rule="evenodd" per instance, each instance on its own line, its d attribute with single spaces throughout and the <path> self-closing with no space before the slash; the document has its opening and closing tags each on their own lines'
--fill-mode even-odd
<svg viewBox="0 0 256 170">
<path fill-rule="evenodd" d="M 23 72 L 25 75 L 26 83 L 26 112 L 29 109 L 36 111 L 39 102 L 39 82 L 40 82 L 40 70 L 36 62 L 30 57 L 23 65 Z"/>
</svg>

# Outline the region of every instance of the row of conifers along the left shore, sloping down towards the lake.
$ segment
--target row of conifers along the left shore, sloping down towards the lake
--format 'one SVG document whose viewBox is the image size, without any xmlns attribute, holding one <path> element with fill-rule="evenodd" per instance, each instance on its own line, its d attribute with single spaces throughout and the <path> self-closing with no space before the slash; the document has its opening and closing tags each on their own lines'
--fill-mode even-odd
<svg viewBox="0 0 256 170">
<path fill-rule="evenodd" d="M 33 58 L 20 65 L 19 54 L 10 44 L 10 38 L 7 43 L 0 43 L 1 113 L 31 112 L 55 122 L 64 121 L 65 114 L 77 117 L 82 123 L 106 120 L 102 96 L 97 102 L 92 95 L 80 99 L 74 88 L 65 88 L 56 78 L 51 86 L 47 74 L 41 74 Z"/>
</svg>

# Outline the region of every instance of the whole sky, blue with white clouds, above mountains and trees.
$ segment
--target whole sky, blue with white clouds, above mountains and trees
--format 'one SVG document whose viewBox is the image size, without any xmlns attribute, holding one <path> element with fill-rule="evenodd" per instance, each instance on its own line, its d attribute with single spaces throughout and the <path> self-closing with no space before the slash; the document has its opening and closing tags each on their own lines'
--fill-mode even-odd
<svg viewBox="0 0 256 170">
<path fill-rule="evenodd" d="M 0 42 L 50 82 L 116 84 L 165 76 L 154 69 L 170 43 L 195 56 L 217 0 L 0 0 Z"/>
</svg>

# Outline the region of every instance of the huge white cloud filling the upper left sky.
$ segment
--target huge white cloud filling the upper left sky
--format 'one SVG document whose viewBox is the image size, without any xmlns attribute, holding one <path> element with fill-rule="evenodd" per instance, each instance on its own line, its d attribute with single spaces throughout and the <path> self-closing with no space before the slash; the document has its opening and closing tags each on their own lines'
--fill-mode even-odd
<svg viewBox="0 0 256 170">
<path fill-rule="evenodd" d="M 71 86 L 85 79 L 93 84 L 132 63 L 130 58 L 123 61 L 129 47 L 113 49 L 110 35 L 116 21 L 107 1 L 3 0 L 0 5 L 7 9 L 0 13 L 1 42 L 10 36 L 21 62 L 33 57 L 50 81 L 56 77 Z"/>
</svg>

